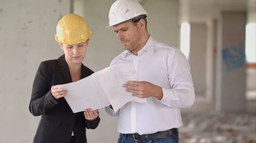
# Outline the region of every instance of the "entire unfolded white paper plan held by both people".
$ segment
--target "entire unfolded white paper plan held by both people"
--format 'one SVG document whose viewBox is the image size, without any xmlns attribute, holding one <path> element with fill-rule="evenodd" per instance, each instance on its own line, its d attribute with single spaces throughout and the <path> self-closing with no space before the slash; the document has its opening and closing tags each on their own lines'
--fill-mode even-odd
<svg viewBox="0 0 256 143">
<path fill-rule="evenodd" d="M 64 97 L 74 113 L 112 105 L 116 112 L 130 101 L 145 103 L 145 98 L 134 97 L 122 87 L 126 81 L 137 80 L 134 64 L 107 67 L 91 76 L 69 84 L 57 85 L 67 90 Z"/>
</svg>

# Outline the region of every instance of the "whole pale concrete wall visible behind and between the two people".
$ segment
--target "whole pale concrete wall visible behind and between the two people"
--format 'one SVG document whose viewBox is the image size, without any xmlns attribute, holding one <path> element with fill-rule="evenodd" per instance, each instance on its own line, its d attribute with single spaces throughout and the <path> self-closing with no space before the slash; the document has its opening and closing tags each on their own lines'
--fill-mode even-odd
<svg viewBox="0 0 256 143">
<path fill-rule="evenodd" d="M 113 28 L 105 28 L 113 2 L 84 0 L 82 5 L 81 2 L 74 3 L 74 12 L 83 13 L 93 31 L 84 64 L 94 71 L 108 67 L 124 50 Z M 58 20 L 73 11 L 72 5 L 70 0 L 0 1 L 1 143 L 32 143 L 40 119 L 32 116 L 28 108 L 32 82 L 41 61 L 56 59 L 63 53 L 55 42 L 55 29 Z M 177 0 L 148 0 L 144 6 L 149 14 L 149 33 L 155 39 L 177 47 Z M 102 121 L 98 129 L 87 132 L 88 142 L 116 143 L 117 118 L 109 117 L 104 109 L 99 112 Z"/>
</svg>

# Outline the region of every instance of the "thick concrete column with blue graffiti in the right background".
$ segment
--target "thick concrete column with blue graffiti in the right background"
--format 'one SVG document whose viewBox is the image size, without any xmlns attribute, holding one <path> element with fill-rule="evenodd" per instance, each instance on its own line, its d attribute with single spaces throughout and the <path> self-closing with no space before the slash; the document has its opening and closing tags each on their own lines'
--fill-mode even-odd
<svg viewBox="0 0 256 143">
<path fill-rule="evenodd" d="M 216 109 L 245 109 L 245 11 L 223 11 L 218 23 Z"/>
</svg>

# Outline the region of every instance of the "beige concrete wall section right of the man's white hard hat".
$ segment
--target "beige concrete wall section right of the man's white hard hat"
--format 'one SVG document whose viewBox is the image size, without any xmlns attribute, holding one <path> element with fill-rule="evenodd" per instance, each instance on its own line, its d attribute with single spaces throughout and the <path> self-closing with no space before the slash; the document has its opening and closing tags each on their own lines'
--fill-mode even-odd
<svg viewBox="0 0 256 143">
<path fill-rule="evenodd" d="M 178 48 L 179 0 L 143 0 L 148 12 L 148 32 L 156 40 Z"/>
</svg>

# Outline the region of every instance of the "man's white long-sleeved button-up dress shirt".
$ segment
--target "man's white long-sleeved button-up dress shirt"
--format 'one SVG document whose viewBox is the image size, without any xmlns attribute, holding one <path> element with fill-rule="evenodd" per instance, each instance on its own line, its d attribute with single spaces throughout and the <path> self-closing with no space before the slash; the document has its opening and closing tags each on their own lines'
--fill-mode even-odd
<svg viewBox="0 0 256 143">
<path fill-rule="evenodd" d="M 191 107 L 195 100 L 190 66 L 184 54 L 150 36 L 138 56 L 125 50 L 111 65 L 129 62 L 134 62 L 139 81 L 162 87 L 163 99 L 149 97 L 147 103 L 129 102 L 116 113 L 105 107 L 108 115 L 118 116 L 118 132 L 143 135 L 182 126 L 180 108 Z"/>
</svg>

